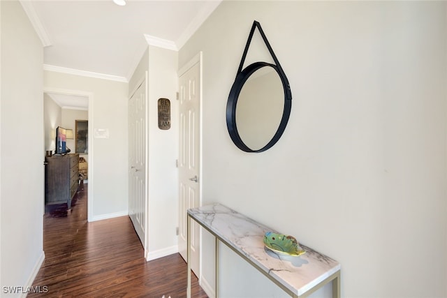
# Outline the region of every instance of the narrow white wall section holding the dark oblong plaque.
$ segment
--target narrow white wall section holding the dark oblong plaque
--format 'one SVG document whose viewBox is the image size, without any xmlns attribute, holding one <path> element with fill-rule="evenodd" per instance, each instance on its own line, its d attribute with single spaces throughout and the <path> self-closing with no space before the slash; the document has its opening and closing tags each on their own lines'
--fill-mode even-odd
<svg viewBox="0 0 447 298">
<path fill-rule="evenodd" d="M 149 45 L 129 82 L 129 91 L 148 73 L 148 177 L 147 260 L 178 251 L 178 103 L 176 91 L 178 53 Z M 131 94 L 130 94 L 131 95 Z M 129 96 L 130 96 L 129 95 Z M 158 100 L 168 98 L 171 107 L 171 128 L 158 126 Z"/>
</svg>

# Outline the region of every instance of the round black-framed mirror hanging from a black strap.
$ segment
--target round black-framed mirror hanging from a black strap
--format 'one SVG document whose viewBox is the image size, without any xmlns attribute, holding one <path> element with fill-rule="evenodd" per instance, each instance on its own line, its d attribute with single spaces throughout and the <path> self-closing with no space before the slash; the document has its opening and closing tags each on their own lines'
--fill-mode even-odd
<svg viewBox="0 0 447 298">
<path fill-rule="evenodd" d="M 255 62 L 242 70 L 245 57 L 258 27 L 275 64 Z M 278 142 L 291 114 L 292 94 L 261 24 L 254 21 L 235 82 L 226 105 L 226 125 L 231 140 L 246 152 L 262 152 Z"/>
</svg>

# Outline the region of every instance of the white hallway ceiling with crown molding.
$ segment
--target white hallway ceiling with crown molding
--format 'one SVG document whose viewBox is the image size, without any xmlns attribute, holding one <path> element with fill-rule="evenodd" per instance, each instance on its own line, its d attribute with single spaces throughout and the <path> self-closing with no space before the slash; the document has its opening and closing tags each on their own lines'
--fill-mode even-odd
<svg viewBox="0 0 447 298">
<path fill-rule="evenodd" d="M 26 1 L 44 68 L 128 82 L 148 43 L 179 50 L 221 0 Z"/>
</svg>

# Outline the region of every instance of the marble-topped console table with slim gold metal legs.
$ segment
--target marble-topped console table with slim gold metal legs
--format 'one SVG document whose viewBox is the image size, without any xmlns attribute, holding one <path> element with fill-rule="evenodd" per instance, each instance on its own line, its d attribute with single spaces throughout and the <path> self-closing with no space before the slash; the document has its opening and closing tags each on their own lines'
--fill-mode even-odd
<svg viewBox="0 0 447 298">
<path fill-rule="evenodd" d="M 291 297 L 307 297 L 330 281 L 332 297 L 340 297 L 340 265 L 337 261 L 302 244 L 300 246 L 306 253 L 299 257 L 273 253 L 264 247 L 263 238 L 265 232 L 274 230 L 221 204 L 212 204 L 188 209 L 188 298 L 191 298 L 191 219 L 216 237 L 216 298 L 219 297 L 219 241 Z"/>
</svg>

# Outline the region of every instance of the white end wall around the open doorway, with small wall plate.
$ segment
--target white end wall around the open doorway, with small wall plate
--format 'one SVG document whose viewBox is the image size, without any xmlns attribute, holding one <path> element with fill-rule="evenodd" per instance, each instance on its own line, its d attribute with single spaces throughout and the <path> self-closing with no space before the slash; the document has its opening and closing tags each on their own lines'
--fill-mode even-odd
<svg viewBox="0 0 447 298">
<path fill-rule="evenodd" d="M 93 77 L 44 71 L 44 88 L 91 94 L 89 129 L 107 128 L 109 138 L 89 143 L 89 219 L 128 214 L 127 94 L 128 84 Z M 92 116 L 92 117 L 91 117 Z M 92 192 L 90 192 L 92 191 Z"/>
</svg>

